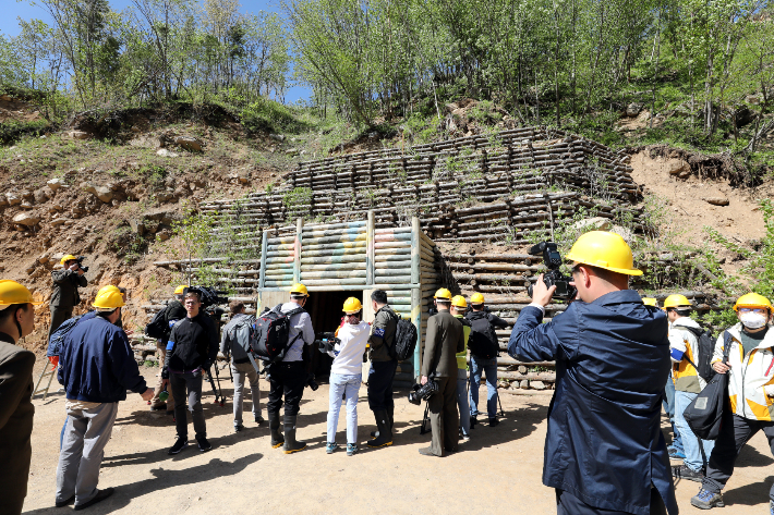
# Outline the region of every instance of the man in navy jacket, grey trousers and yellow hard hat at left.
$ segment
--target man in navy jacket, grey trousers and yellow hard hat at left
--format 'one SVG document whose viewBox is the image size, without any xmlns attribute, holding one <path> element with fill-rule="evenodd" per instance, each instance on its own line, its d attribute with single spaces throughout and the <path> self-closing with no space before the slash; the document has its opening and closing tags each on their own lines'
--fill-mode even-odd
<svg viewBox="0 0 774 515">
<path fill-rule="evenodd" d="M 121 317 L 123 296 L 116 286 L 97 293 L 97 315 L 77 323 L 64 339 L 57 378 L 64 387 L 68 419 L 57 466 L 57 507 L 75 510 L 96 504 L 113 493 L 97 489 L 105 445 L 110 440 L 119 401 L 126 390 L 153 397 L 134 360 Z"/>
</svg>

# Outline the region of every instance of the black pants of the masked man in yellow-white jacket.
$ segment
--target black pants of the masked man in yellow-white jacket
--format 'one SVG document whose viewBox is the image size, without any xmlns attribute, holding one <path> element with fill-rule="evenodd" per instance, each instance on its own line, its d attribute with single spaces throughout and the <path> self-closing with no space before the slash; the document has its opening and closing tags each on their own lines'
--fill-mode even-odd
<svg viewBox="0 0 774 515">
<path fill-rule="evenodd" d="M 710 456 L 710 464 L 706 467 L 706 477 L 702 482 L 704 490 L 715 493 L 723 490 L 728 478 L 734 474 L 737 456 L 745 444 L 761 429 L 769 439 L 769 447 L 774 454 L 774 421 L 753 420 L 737 414 L 728 414 L 724 417 L 721 433 L 717 436 L 715 447 Z M 774 485 L 769 490 L 769 498 L 774 501 Z"/>
</svg>

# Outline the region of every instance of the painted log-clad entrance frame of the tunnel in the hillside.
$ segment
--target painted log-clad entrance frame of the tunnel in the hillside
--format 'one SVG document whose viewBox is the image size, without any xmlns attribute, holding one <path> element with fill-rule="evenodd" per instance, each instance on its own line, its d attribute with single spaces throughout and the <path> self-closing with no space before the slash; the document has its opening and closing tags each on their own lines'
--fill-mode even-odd
<svg viewBox="0 0 774 515">
<path fill-rule="evenodd" d="M 288 302 L 290 286 L 301 282 L 311 297 L 315 292 L 352 292 L 363 301 L 363 319 L 373 322 L 371 293 L 384 290 L 396 312 L 418 329 L 413 358 L 398 364 L 395 378 L 396 385 L 413 384 L 420 375 L 427 308 L 439 282 L 435 244 L 420 229 L 419 218 L 412 218 L 411 226 L 391 229 L 375 229 L 373 211 L 367 220 L 329 224 L 305 225 L 299 218 L 294 236 L 269 234 L 264 231 L 262 238 L 258 312 Z M 329 327 L 315 327 L 323 330 Z"/>
</svg>

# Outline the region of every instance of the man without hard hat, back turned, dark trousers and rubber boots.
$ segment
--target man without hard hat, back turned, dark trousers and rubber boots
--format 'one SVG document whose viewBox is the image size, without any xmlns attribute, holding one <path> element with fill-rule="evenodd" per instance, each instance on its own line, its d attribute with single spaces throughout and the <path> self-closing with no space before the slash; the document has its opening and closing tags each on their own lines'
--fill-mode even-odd
<svg viewBox="0 0 774 515">
<path fill-rule="evenodd" d="M 376 314 L 371 338 L 368 338 L 371 370 L 368 371 L 368 407 L 374 412 L 378 430 L 368 440 L 370 447 L 392 445 L 392 417 L 395 400 L 392 398 L 392 379 L 398 369 L 398 359 L 394 358 L 389 348 L 395 345 L 395 333 L 398 330 L 398 315 L 387 304 L 387 292 L 374 290 L 371 304 Z"/>
</svg>

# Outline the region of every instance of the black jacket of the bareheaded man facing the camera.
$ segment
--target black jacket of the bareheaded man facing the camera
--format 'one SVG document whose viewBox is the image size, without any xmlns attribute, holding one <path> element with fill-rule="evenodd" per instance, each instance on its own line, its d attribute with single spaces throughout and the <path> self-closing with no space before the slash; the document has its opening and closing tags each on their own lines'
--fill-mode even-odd
<svg viewBox="0 0 774 515">
<path fill-rule="evenodd" d="M 219 343 L 215 322 L 206 314 L 180 320 L 169 335 L 164 371 L 189 372 L 215 361 Z"/>
</svg>

